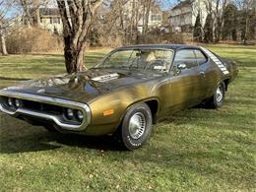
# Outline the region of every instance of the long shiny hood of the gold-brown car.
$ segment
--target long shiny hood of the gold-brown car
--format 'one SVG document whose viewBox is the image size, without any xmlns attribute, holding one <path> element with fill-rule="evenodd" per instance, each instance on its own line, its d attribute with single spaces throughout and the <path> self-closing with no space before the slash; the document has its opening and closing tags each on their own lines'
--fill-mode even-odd
<svg viewBox="0 0 256 192">
<path fill-rule="evenodd" d="M 149 71 L 146 73 L 129 70 L 90 69 L 73 75 L 27 81 L 18 86 L 7 88 L 7 90 L 88 102 L 96 96 L 153 80 L 160 76 L 162 75 L 153 74 Z"/>
</svg>

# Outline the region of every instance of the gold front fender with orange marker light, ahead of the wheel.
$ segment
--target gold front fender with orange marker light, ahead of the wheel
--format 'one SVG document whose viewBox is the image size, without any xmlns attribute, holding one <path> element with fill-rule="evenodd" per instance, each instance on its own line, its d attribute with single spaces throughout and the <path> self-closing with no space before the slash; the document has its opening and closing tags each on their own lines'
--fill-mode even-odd
<svg viewBox="0 0 256 192">
<path fill-rule="evenodd" d="M 119 126 L 129 106 L 150 99 L 151 91 L 145 87 L 134 87 L 98 96 L 89 103 L 92 117 L 86 132 L 89 135 L 113 133 Z M 157 99 L 157 98 L 156 98 Z"/>
</svg>

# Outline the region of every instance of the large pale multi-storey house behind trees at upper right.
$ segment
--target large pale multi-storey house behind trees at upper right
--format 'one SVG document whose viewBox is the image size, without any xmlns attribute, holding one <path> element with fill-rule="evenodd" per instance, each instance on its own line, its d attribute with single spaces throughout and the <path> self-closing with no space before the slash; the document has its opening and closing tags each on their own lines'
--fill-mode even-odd
<svg viewBox="0 0 256 192">
<path fill-rule="evenodd" d="M 169 24 L 173 32 L 192 32 L 200 13 L 201 25 L 208 15 L 207 0 L 185 0 L 170 10 Z"/>
</svg>

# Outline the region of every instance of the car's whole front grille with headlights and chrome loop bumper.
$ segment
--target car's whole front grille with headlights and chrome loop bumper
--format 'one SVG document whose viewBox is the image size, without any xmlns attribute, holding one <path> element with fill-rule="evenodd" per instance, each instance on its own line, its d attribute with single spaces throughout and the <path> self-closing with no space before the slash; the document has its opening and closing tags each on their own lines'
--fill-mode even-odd
<svg viewBox="0 0 256 192">
<path fill-rule="evenodd" d="M 0 111 L 17 118 L 30 116 L 35 121 L 50 121 L 72 131 L 84 131 L 90 125 L 92 116 L 86 103 L 9 90 L 0 91 Z"/>
</svg>

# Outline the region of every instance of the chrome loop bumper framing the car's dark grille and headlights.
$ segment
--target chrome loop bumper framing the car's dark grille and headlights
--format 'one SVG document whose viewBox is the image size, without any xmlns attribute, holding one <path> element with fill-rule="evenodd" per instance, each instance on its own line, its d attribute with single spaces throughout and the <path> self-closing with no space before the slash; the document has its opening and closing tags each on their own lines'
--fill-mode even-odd
<svg viewBox="0 0 256 192">
<path fill-rule="evenodd" d="M 41 112 L 37 112 L 37 111 L 32 111 L 32 110 L 28 110 L 25 108 L 18 108 L 16 111 L 10 111 L 10 110 L 7 110 L 6 108 L 4 108 L 4 106 L 0 103 L 0 110 L 7 114 L 10 114 L 10 115 L 16 115 L 16 114 L 21 113 L 21 114 L 32 115 L 35 117 L 41 117 L 44 119 L 50 119 L 50 120 L 53 120 L 61 128 L 67 129 L 67 130 L 73 130 L 73 131 L 83 131 L 91 123 L 91 109 L 90 109 L 89 105 L 85 104 L 85 103 L 66 100 L 66 99 L 62 99 L 62 98 L 55 98 L 55 97 L 50 97 L 50 96 L 36 96 L 36 95 L 31 95 L 31 94 L 17 93 L 17 92 L 8 91 L 8 90 L 0 91 L 0 96 L 9 96 L 9 97 L 21 98 L 21 99 L 26 99 L 26 100 L 32 100 L 32 101 L 37 101 L 37 102 L 53 104 L 53 105 L 59 105 L 59 106 L 64 106 L 64 107 L 70 107 L 72 109 L 79 109 L 79 110 L 83 111 L 85 118 L 84 118 L 83 122 L 81 123 L 81 125 L 72 125 L 72 124 L 61 122 L 54 115 L 45 114 L 45 113 L 41 113 Z"/>
</svg>

